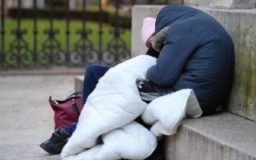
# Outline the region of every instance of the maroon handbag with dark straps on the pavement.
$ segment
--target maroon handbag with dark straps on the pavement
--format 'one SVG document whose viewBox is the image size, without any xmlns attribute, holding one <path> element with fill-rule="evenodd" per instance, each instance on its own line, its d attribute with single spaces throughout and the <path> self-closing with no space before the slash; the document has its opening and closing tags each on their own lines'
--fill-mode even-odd
<svg viewBox="0 0 256 160">
<path fill-rule="evenodd" d="M 78 122 L 78 117 L 82 111 L 82 94 L 80 92 L 71 94 L 63 101 L 49 98 L 50 106 L 54 110 L 54 130 L 59 127 L 65 128 L 73 122 Z"/>
</svg>

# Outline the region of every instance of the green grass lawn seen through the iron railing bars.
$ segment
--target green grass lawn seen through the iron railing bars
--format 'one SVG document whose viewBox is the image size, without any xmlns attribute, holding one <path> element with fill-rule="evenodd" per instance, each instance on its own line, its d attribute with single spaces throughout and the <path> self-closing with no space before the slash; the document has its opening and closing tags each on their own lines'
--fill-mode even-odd
<svg viewBox="0 0 256 160">
<path fill-rule="evenodd" d="M 10 43 L 14 41 L 15 35 L 10 34 L 11 30 L 17 29 L 17 20 L 12 18 L 6 18 L 6 34 L 5 34 L 5 50 L 10 50 Z M 38 19 L 38 50 L 42 49 L 42 43 L 46 41 L 48 37 L 43 34 L 43 30 L 50 28 L 50 21 L 47 19 Z M 86 28 L 92 30 L 92 34 L 89 35 L 89 39 L 94 44 L 94 50 L 98 50 L 98 22 L 86 22 Z M 27 30 L 27 34 L 23 36 L 30 50 L 34 50 L 34 24 L 32 19 L 22 19 L 22 29 Z M 54 19 L 54 29 L 59 30 L 59 34 L 56 35 L 56 39 L 60 42 L 62 50 L 66 50 L 66 20 Z M 70 50 L 74 50 L 74 44 L 80 38 L 80 35 L 76 34 L 76 30 L 82 29 L 82 21 L 72 20 L 70 21 Z M 113 27 L 103 24 L 103 36 L 102 47 L 106 49 L 107 42 L 113 38 L 113 34 L 110 34 L 110 30 Z M 121 38 L 126 42 L 126 46 L 130 49 L 130 30 L 125 30 L 121 35 Z"/>
</svg>

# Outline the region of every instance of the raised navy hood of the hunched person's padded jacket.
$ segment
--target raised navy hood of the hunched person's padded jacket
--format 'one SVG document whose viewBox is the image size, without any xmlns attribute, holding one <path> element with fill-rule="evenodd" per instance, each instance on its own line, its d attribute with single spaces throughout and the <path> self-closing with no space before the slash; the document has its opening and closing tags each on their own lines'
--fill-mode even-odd
<svg viewBox="0 0 256 160">
<path fill-rule="evenodd" d="M 155 22 L 155 33 L 158 33 L 165 26 L 170 26 L 173 22 L 190 18 L 201 12 L 190 6 L 165 6 L 160 10 Z"/>
</svg>

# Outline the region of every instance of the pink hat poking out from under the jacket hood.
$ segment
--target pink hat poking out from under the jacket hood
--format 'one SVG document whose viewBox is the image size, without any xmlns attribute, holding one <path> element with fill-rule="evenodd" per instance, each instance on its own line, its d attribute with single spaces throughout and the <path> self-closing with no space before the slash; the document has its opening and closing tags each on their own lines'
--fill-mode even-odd
<svg viewBox="0 0 256 160">
<path fill-rule="evenodd" d="M 142 25 L 142 41 L 146 45 L 148 40 L 154 34 L 155 18 L 144 18 Z"/>
</svg>

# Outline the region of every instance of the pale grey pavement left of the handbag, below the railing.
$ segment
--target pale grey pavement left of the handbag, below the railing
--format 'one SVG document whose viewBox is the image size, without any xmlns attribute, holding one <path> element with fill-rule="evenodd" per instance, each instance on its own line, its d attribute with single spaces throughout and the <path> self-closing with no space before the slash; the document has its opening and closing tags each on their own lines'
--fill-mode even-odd
<svg viewBox="0 0 256 160">
<path fill-rule="evenodd" d="M 39 144 L 54 131 L 48 98 L 74 91 L 74 75 L 0 77 L 0 159 L 58 160 Z"/>
</svg>

